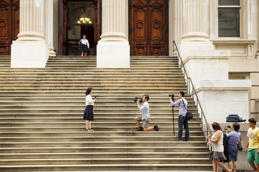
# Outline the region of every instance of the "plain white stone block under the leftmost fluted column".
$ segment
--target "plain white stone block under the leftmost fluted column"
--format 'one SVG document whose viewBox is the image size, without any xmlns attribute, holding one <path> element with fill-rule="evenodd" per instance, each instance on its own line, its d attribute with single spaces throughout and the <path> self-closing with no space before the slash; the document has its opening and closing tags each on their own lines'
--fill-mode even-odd
<svg viewBox="0 0 259 172">
<path fill-rule="evenodd" d="M 45 41 L 13 41 L 11 68 L 45 68 L 49 46 Z"/>
</svg>

